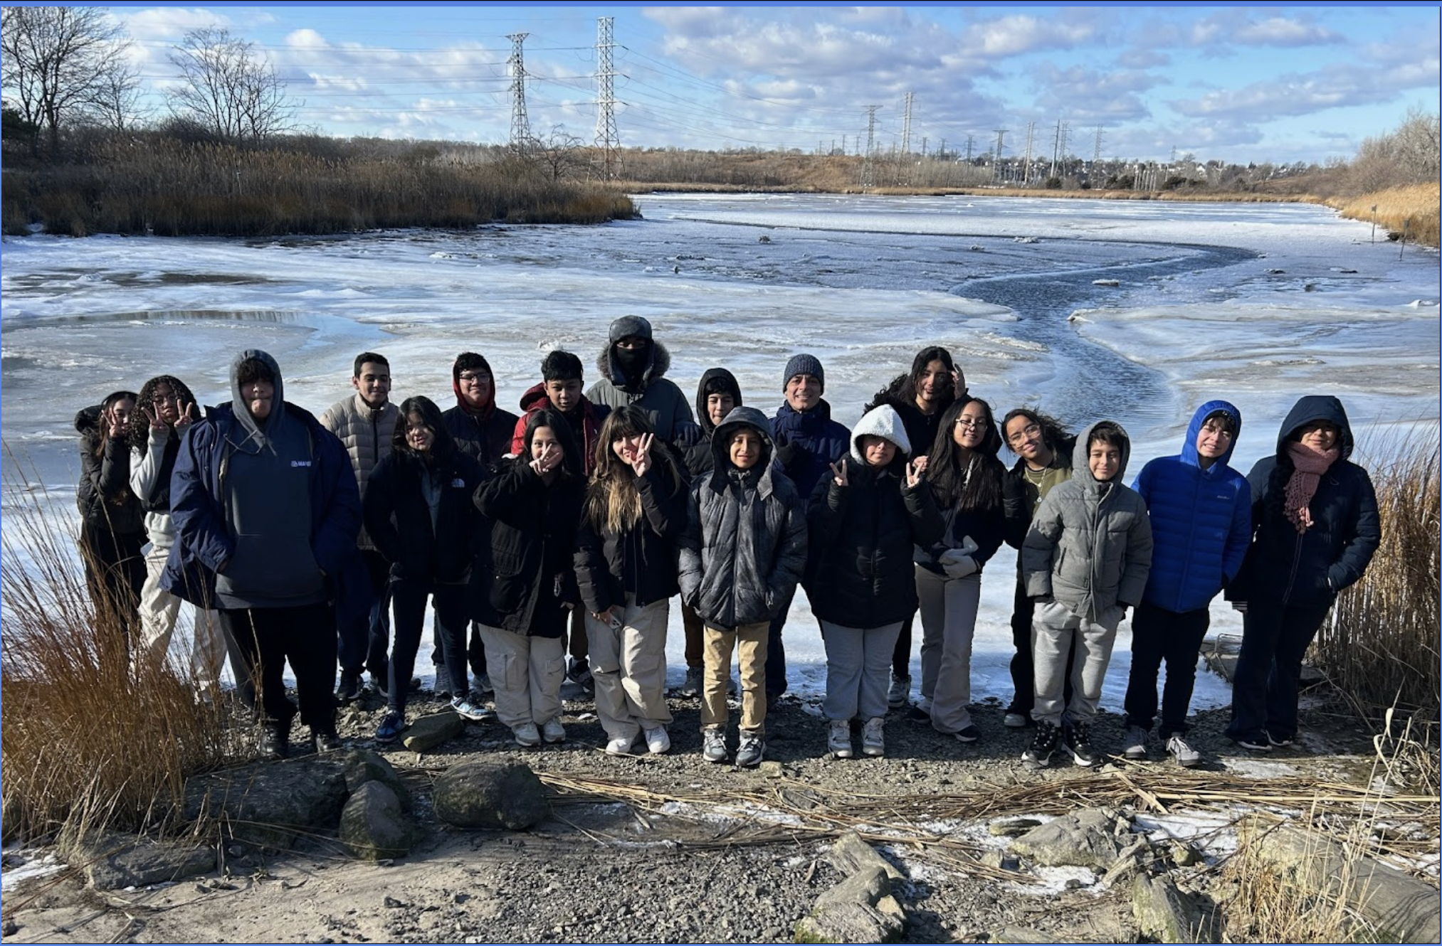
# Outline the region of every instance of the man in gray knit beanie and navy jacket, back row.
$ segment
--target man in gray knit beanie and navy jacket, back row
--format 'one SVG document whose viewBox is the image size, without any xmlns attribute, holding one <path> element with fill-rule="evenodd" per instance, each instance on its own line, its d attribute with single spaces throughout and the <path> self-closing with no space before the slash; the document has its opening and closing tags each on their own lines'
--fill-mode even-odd
<svg viewBox="0 0 1442 946">
<path fill-rule="evenodd" d="M 816 483 L 831 473 L 831 464 L 851 450 L 851 431 L 831 420 L 831 405 L 822 398 L 826 369 L 815 355 L 793 355 L 782 375 L 786 401 L 771 421 L 776 459 L 802 496 L 810 496 Z M 766 653 L 766 695 L 774 702 L 786 692 L 786 647 L 782 629 L 790 611 L 790 598 L 771 620 Z"/>
</svg>

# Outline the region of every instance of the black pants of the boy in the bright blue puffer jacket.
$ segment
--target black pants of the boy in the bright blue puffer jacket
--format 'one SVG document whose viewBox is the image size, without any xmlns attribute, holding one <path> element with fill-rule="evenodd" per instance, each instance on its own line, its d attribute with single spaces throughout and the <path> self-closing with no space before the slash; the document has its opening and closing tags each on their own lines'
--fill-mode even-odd
<svg viewBox="0 0 1442 946">
<path fill-rule="evenodd" d="M 1197 682 L 1197 655 L 1207 636 L 1211 614 L 1168 611 L 1142 601 L 1132 614 L 1132 672 L 1126 679 L 1126 725 L 1151 730 L 1156 717 L 1156 672 L 1167 662 L 1162 689 L 1162 728 L 1165 740 L 1187 733 L 1187 707 Z"/>
</svg>

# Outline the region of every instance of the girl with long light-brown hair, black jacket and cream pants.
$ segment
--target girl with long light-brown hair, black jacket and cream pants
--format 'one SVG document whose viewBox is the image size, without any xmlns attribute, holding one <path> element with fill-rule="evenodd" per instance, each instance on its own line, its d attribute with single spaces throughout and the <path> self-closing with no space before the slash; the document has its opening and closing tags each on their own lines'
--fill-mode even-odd
<svg viewBox="0 0 1442 946">
<path fill-rule="evenodd" d="M 645 411 L 611 411 L 596 444 L 575 575 L 587 610 L 596 715 L 613 756 L 630 753 L 643 733 L 649 751 L 671 748 L 666 620 L 679 590 L 676 539 L 685 523 L 685 479 L 655 443 Z"/>
</svg>

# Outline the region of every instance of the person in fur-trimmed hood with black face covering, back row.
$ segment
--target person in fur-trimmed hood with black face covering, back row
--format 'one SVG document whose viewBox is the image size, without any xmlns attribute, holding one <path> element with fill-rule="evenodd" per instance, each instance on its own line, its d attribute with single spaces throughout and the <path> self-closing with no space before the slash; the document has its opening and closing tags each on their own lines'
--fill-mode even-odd
<svg viewBox="0 0 1442 946">
<path fill-rule="evenodd" d="M 587 389 L 585 397 L 611 410 L 639 408 L 655 428 L 656 438 L 678 447 L 678 461 L 682 450 L 701 437 L 686 395 L 665 376 L 671 368 L 671 352 L 652 337 L 650 323 L 640 316 L 622 316 L 611 323 L 596 368 L 601 378 Z"/>
</svg>

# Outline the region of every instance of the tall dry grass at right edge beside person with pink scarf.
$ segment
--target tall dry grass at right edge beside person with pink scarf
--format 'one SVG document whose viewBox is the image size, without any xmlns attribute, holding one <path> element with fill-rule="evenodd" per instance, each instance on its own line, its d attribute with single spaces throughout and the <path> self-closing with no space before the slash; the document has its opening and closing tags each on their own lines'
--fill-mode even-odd
<svg viewBox="0 0 1442 946">
<path fill-rule="evenodd" d="M 1381 545 L 1314 643 L 1317 666 L 1373 720 L 1396 707 L 1399 718 L 1436 722 L 1442 702 L 1438 438 L 1425 424 L 1363 444 L 1357 460 L 1377 489 Z"/>
</svg>

